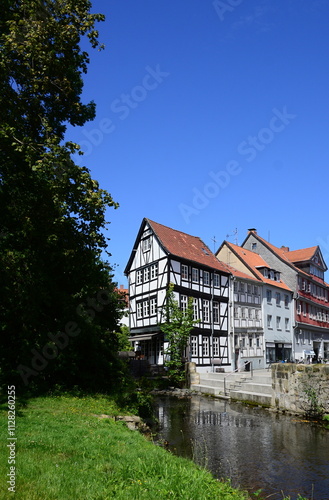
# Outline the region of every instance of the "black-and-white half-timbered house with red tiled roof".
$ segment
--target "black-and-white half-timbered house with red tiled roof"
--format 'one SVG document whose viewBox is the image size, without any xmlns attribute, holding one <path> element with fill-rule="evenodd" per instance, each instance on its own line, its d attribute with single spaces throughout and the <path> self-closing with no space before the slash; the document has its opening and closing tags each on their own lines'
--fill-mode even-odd
<svg viewBox="0 0 329 500">
<path fill-rule="evenodd" d="M 230 366 L 228 268 L 195 236 L 143 219 L 125 274 L 129 282 L 131 341 L 151 364 L 165 362 L 161 332 L 170 283 L 182 309 L 193 299 L 194 319 L 186 358 L 198 371 Z"/>
</svg>

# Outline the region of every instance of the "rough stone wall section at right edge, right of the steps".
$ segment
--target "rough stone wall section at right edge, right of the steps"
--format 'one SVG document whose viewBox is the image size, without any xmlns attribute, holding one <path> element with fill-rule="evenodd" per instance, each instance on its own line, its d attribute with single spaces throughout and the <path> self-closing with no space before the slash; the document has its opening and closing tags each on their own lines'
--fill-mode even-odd
<svg viewBox="0 0 329 500">
<path fill-rule="evenodd" d="M 291 413 L 305 413 L 311 403 L 329 413 L 329 365 L 272 365 L 272 406 Z"/>
</svg>

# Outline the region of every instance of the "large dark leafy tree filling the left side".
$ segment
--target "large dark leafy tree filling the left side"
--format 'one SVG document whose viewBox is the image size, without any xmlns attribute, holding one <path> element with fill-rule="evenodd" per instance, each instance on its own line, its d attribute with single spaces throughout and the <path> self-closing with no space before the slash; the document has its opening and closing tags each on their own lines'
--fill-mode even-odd
<svg viewBox="0 0 329 500">
<path fill-rule="evenodd" d="M 1 7 L 1 381 L 99 388 L 114 382 L 120 302 L 101 254 L 105 212 L 118 205 L 74 163 L 79 146 L 65 132 L 95 116 L 80 99 L 89 62 L 80 41 L 101 48 L 104 16 L 87 0 Z"/>
</svg>

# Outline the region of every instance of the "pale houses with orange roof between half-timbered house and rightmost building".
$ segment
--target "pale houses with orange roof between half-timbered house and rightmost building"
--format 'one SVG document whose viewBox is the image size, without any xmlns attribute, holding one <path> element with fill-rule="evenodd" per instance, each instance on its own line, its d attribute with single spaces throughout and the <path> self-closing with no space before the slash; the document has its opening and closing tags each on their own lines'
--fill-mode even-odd
<svg viewBox="0 0 329 500">
<path fill-rule="evenodd" d="M 278 270 L 259 255 L 224 241 L 216 253 L 234 276 L 231 329 L 235 367 L 254 369 L 293 360 L 293 294 Z M 243 277 L 244 276 L 244 277 Z"/>
</svg>

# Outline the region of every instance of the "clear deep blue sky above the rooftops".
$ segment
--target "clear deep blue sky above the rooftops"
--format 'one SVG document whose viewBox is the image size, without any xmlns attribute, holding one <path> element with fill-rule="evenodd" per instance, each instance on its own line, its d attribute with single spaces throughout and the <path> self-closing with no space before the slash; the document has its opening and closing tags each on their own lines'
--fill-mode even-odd
<svg viewBox="0 0 329 500">
<path fill-rule="evenodd" d="M 329 2 L 92 3 L 106 15 L 84 78 L 97 115 L 67 138 L 120 204 L 115 279 L 143 217 L 212 250 L 254 227 L 291 250 L 320 245 L 329 265 Z"/>
</svg>

